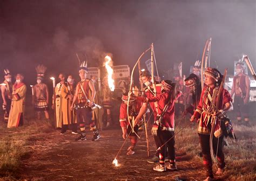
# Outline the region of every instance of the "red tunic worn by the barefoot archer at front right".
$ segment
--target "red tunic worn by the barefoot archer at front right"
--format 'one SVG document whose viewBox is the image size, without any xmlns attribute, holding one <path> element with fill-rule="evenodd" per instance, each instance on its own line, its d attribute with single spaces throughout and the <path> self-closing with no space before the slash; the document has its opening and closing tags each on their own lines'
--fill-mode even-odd
<svg viewBox="0 0 256 181">
<path fill-rule="evenodd" d="M 211 114 L 213 114 L 213 112 L 215 111 L 214 107 L 211 108 L 211 102 L 214 100 L 215 101 L 217 100 L 218 90 L 219 89 L 216 87 L 211 88 L 209 86 L 206 86 L 201 93 L 199 104 L 197 106 L 196 111 L 193 114 L 194 116 L 196 116 L 197 119 L 200 119 L 199 125 L 198 125 L 198 133 L 200 134 L 210 135 L 211 133 L 211 122 L 212 122 Z M 230 93 L 228 93 L 226 89 L 224 89 L 224 94 L 222 92 L 221 95 L 224 95 L 224 96 L 220 96 L 219 110 L 223 109 L 227 102 L 232 102 Z M 215 104 L 213 103 L 212 105 L 215 105 Z M 220 128 L 219 121 L 220 120 L 217 119 L 217 122 L 216 122 L 217 125 L 214 131 L 217 131 Z"/>
</svg>

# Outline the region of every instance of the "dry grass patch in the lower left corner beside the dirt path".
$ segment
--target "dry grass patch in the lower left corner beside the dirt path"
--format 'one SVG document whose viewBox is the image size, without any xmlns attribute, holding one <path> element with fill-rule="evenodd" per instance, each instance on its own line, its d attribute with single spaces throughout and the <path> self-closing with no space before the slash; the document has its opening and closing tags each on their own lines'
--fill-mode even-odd
<svg viewBox="0 0 256 181">
<path fill-rule="evenodd" d="M 53 131 L 48 121 L 25 122 L 26 126 L 7 129 L 6 124 L 1 124 L 0 140 L 0 176 L 2 180 L 18 178 L 21 160 L 29 157 L 32 145 L 37 140 L 49 137 Z"/>
</svg>

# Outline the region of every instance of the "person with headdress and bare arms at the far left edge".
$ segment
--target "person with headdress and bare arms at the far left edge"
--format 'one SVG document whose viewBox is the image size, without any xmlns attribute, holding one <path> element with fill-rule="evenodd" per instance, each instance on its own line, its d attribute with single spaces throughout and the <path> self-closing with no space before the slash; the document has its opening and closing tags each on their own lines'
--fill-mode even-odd
<svg viewBox="0 0 256 181">
<path fill-rule="evenodd" d="M 3 99 L 3 111 L 4 121 L 8 122 L 9 113 L 11 109 L 11 99 L 9 95 L 12 93 L 11 73 L 9 69 L 4 69 L 4 82 L 1 86 L 2 99 Z"/>
</svg>

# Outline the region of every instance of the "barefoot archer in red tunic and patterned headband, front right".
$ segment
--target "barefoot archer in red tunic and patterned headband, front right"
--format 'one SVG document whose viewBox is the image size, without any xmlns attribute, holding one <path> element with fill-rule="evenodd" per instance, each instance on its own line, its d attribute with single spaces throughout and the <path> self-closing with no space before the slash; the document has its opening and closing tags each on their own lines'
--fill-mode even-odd
<svg viewBox="0 0 256 181">
<path fill-rule="evenodd" d="M 207 178 L 205 180 L 212 180 L 213 171 L 210 152 L 210 133 L 213 124 L 212 122 L 213 120 L 215 120 L 214 117 L 217 116 L 215 130 L 213 130 L 214 135 L 212 142 L 214 154 L 217 154 L 218 159 L 218 171 L 216 172 L 216 174 L 220 175 L 224 172 L 224 167 L 226 165 L 224 161 L 224 153 L 221 147 L 224 135 L 223 130 L 221 130 L 220 127 L 220 118 L 225 112 L 232 110 L 233 106 L 231 95 L 226 89 L 223 89 L 223 92 L 219 93 L 223 75 L 221 75 L 218 69 L 208 67 L 205 69 L 204 75 L 206 86 L 201 93 L 199 104 L 197 106 L 197 109 L 191 116 L 190 121 L 199 120 L 198 135 L 201 145 L 201 151 L 203 153 L 204 168 L 206 170 Z M 218 94 L 220 94 L 221 96 L 219 100 L 220 102 L 218 112 L 216 113 L 215 110 Z"/>
</svg>

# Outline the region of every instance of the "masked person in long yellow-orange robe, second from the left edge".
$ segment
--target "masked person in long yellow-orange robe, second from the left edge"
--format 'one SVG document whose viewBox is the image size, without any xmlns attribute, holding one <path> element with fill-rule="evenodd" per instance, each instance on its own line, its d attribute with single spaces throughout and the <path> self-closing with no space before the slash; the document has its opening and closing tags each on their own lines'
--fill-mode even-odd
<svg viewBox="0 0 256 181">
<path fill-rule="evenodd" d="M 23 83 L 24 76 L 16 75 L 16 82 L 12 86 L 11 109 L 8 119 L 8 128 L 14 128 L 23 125 L 23 116 L 25 112 L 26 85 Z"/>
</svg>

